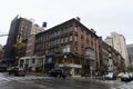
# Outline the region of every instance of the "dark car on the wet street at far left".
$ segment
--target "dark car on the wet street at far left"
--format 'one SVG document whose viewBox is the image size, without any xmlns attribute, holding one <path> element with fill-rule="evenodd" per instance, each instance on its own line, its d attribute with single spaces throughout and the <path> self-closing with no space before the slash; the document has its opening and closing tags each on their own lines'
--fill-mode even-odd
<svg viewBox="0 0 133 89">
<path fill-rule="evenodd" d="M 14 76 L 25 76 L 25 69 L 14 67 L 9 70 L 9 75 L 14 75 Z"/>
</svg>

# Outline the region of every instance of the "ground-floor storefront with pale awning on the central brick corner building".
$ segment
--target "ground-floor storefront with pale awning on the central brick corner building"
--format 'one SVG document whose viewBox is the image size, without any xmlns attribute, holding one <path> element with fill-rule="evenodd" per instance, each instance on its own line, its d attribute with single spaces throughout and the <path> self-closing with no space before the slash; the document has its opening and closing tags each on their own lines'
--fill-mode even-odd
<svg viewBox="0 0 133 89">
<path fill-rule="evenodd" d="M 62 68 L 69 76 L 81 76 L 81 59 L 73 53 L 45 56 L 45 70 Z"/>
</svg>

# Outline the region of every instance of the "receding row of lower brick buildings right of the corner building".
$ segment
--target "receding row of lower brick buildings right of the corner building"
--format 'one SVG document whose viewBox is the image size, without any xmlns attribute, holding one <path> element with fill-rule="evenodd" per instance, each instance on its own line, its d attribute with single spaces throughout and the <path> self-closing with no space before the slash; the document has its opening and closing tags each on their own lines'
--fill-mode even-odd
<svg viewBox="0 0 133 89">
<path fill-rule="evenodd" d="M 100 72 L 119 72 L 124 69 L 124 59 L 121 53 L 100 38 Z"/>
</svg>

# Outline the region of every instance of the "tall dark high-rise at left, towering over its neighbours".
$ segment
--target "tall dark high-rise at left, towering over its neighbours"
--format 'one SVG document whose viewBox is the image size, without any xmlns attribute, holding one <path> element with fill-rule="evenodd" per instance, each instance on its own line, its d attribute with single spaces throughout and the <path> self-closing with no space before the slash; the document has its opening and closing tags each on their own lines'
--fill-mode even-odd
<svg viewBox="0 0 133 89">
<path fill-rule="evenodd" d="M 7 66 L 16 66 L 18 50 L 14 48 L 14 44 L 17 43 L 17 39 L 19 37 L 21 37 L 22 40 L 28 39 L 28 36 L 31 32 L 31 26 L 32 26 L 32 22 L 30 20 L 27 20 L 19 16 L 17 16 L 11 21 L 9 36 L 6 44 L 6 50 L 4 50 L 4 60 L 3 60 L 3 62 Z M 25 50 L 23 49 L 23 51 Z"/>
</svg>

